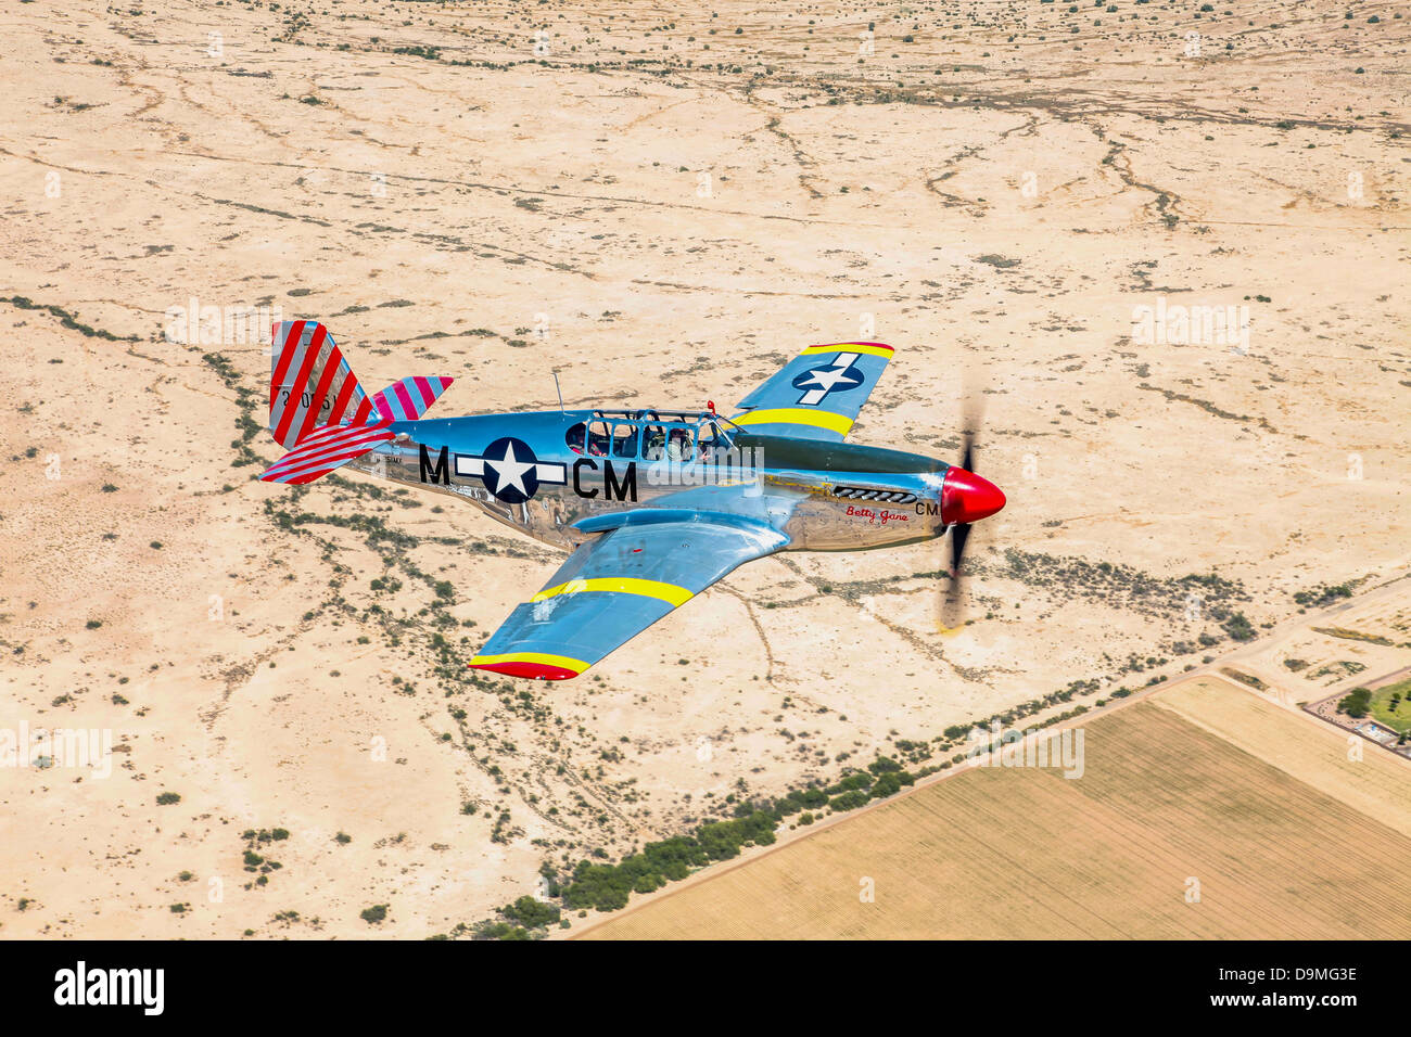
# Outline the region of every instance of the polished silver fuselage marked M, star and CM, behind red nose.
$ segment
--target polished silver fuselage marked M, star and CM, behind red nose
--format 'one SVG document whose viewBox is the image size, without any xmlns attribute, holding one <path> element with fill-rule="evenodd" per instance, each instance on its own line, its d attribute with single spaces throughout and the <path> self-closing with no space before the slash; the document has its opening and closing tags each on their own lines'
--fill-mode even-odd
<svg viewBox="0 0 1411 1037">
<path fill-rule="evenodd" d="M 642 508 L 765 522 L 789 538 L 789 550 L 886 547 L 947 526 L 945 461 L 752 435 L 710 413 L 542 411 L 396 422 L 391 430 L 394 440 L 349 467 L 460 497 L 566 550 L 611 528 L 611 516 Z"/>
</svg>

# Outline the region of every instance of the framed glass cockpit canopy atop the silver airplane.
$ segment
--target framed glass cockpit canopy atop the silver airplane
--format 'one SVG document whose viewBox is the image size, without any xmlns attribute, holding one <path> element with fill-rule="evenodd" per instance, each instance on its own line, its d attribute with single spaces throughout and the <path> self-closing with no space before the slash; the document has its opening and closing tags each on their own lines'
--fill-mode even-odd
<svg viewBox="0 0 1411 1037">
<path fill-rule="evenodd" d="M 729 419 L 713 412 L 594 411 L 564 440 L 569 450 L 588 457 L 687 464 L 728 450 L 735 430 Z"/>
</svg>

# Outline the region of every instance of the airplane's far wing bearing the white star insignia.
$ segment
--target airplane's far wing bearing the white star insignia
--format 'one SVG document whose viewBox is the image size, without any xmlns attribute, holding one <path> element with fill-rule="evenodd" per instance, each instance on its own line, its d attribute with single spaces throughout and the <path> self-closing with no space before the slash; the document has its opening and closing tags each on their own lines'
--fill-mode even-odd
<svg viewBox="0 0 1411 1037">
<path fill-rule="evenodd" d="M 756 388 L 731 420 L 751 432 L 841 442 L 892 358 L 879 341 L 810 346 Z"/>
</svg>

